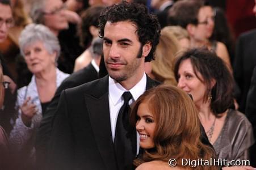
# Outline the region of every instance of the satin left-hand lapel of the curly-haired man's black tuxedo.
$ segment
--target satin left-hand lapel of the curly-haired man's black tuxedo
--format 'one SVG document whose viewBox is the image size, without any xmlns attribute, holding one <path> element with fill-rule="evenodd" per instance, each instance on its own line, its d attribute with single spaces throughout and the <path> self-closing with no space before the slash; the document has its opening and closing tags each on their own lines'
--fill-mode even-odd
<svg viewBox="0 0 256 170">
<path fill-rule="evenodd" d="M 116 169 L 108 104 L 108 78 L 102 80 L 98 83 L 99 86 L 94 88 L 94 92 L 85 95 L 85 101 L 91 128 L 104 164 L 107 169 Z"/>
</svg>

